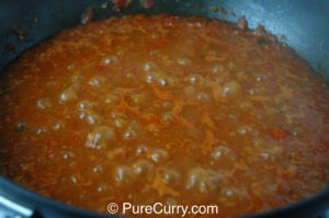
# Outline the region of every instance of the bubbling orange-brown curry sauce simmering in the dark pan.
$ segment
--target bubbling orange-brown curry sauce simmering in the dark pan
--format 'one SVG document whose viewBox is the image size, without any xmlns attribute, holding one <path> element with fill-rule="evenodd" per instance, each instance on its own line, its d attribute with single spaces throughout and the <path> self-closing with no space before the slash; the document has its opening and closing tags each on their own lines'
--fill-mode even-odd
<svg viewBox="0 0 329 218">
<path fill-rule="evenodd" d="M 0 93 L 1 173 L 73 206 L 215 204 L 231 217 L 329 181 L 325 81 L 242 21 L 81 25 L 9 66 Z"/>
</svg>

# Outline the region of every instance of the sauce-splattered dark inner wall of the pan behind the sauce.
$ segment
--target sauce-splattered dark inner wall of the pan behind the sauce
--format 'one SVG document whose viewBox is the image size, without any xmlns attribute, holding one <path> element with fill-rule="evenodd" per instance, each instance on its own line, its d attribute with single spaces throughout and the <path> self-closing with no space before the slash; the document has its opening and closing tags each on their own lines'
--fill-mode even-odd
<svg viewBox="0 0 329 218">
<path fill-rule="evenodd" d="M 211 10 L 216 5 L 218 10 Z M 241 16 L 249 27 L 262 24 L 293 47 L 311 67 L 329 80 L 329 1 L 308 0 L 155 0 L 145 9 L 139 0 L 114 10 L 106 0 L 18 0 L 0 1 L 0 71 L 23 50 L 61 30 L 80 24 L 81 14 L 94 12 L 94 20 L 132 13 L 196 15 L 237 22 Z"/>
</svg>

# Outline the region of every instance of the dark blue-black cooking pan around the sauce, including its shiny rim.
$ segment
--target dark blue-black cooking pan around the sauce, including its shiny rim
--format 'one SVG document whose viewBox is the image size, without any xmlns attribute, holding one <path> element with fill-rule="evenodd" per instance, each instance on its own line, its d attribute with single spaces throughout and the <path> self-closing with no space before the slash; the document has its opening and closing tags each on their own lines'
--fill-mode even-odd
<svg viewBox="0 0 329 218">
<path fill-rule="evenodd" d="M 106 8 L 101 7 L 104 2 L 107 2 Z M 212 5 L 219 10 L 213 12 Z M 95 20 L 140 12 L 196 15 L 229 22 L 245 16 L 249 27 L 263 24 L 329 79 L 329 0 L 155 0 L 155 7 L 149 10 L 140 7 L 139 0 L 133 0 L 131 7 L 120 12 L 113 10 L 110 0 L 1 0 L 0 71 L 26 48 L 78 25 L 88 9 L 94 12 Z M 326 209 L 329 209 L 329 188 L 284 208 L 249 217 L 318 218 L 325 217 Z M 0 176 L 0 218 L 15 216 L 111 217 L 39 196 Z"/>
</svg>

